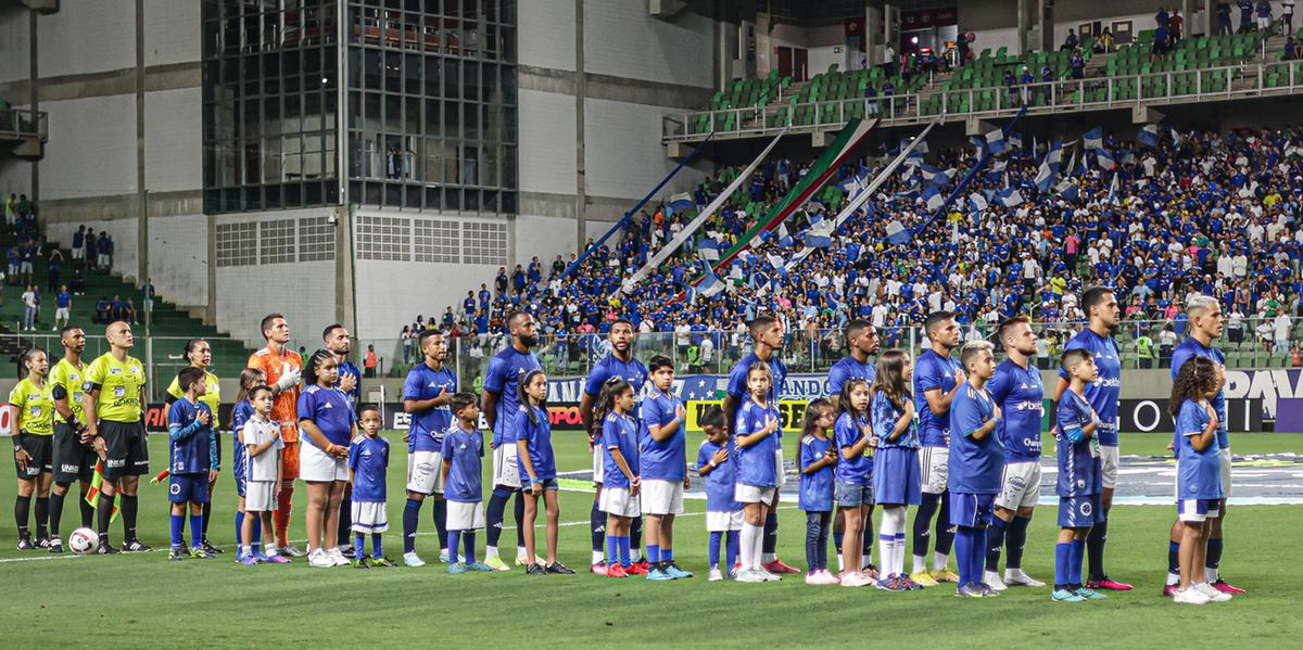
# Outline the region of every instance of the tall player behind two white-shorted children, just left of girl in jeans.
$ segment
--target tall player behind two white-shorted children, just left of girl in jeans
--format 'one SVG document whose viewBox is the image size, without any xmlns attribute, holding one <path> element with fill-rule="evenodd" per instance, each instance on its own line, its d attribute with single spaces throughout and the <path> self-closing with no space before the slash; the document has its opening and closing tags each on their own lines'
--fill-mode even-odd
<svg viewBox="0 0 1303 650">
<path fill-rule="evenodd" d="M 761 314 L 751 322 L 748 331 L 751 332 L 754 348 L 749 354 L 734 363 L 732 371 L 728 374 L 727 393 L 724 395 L 724 414 L 728 417 L 728 422 L 732 423 L 737 422 L 737 414 L 741 412 L 741 406 L 751 399 L 747 376 L 753 365 L 760 363 L 769 369 L 769 393 L 765 397 L 765 401 L 774 409 L 778 409 L 778 396 L 783 389 L 783 382 L 787 380 L 787 366 L 783 365 L 782 360 L 783 340 L 786 336 L 783 322 L 774 315 Z M 774 490 L 771 495 L 773 502 L 766 504 L 767 508 L 765 516 L 761 563 L 764 563 L 764 569 L 769 573 L 800 573 L 800 569 L 788 567 L 779 560 L 777 552 L 778 491 L 782 490 L 783 483 L 786 482 L 786 473 L 783 470 L 782 419 L 778 421 L 777 426 L 778 429 L 774 430 L 775 435 L 771 444 L 765 445 L 766 448 L 771 448 L 774 455 Z M 734 431 L 736 431 L 736 426 L 734 427 Z M 743 538 L 745 539 L 745 530 L 743 530 Z M 743 561 L 747 559 L 744 556 Z"/>
</svg>

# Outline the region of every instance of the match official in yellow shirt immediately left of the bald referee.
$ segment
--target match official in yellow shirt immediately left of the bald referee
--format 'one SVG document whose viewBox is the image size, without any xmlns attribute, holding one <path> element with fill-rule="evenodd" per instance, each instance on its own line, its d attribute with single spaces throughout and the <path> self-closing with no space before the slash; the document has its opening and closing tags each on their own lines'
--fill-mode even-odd
<svg viewBox="0 0 1303 650">
<path fill-rule="evenodd" d="M 53 370 L 50 371 L 50 395 L 55 399 L 55 486 L 50 495 L 50 552 L 64 552 L 64 544 L 59 538 L 59 524 L 64 516 L 64 498 L 73 481 L 79 481 L 79 495 L 77 503 L 81 508 L 81 524 L 83 528 L 94 525 L 95 508 L 86 503 L 86 492 L 90 490 L 90 481 L 95 474 L 95 451 L 81 440 L 82 429 L 86 427 L 86 416 L 82 413 L 82 375 L 86 365 L 81 356 L 86 350 L 86 332 L 81 327 L 64 327 L 59 335 L 59 343 L 64 346 L 64 358 L 59 360 Z"/>
</svg>

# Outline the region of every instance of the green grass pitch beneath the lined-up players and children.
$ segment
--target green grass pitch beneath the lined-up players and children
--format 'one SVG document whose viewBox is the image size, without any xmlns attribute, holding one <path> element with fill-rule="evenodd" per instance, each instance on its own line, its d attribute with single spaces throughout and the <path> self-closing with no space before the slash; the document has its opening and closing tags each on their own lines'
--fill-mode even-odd
<svg viewBox="0 0 1303 650">
<path fill-rule="evenodd" d="M 399 439 L 391 435 L 396 453 L 390 472 L 392 528 L 386 534 L 387 554 L 395 559 L 401 555 L 405 472 Z M 1164 434 L 1130 435 L 1123 451 L 1158 455 L 1167 439 Z M 694 448 L 696 443 L 689 445 Z M 1299 452 L 1303 435 L 1237 435 L 1235 449 Z M 563 470 L 589 462 L 580 436 L 558 435 L 556 451 Z M 155 465 L 165 453 L 165 439 L 154 436 Z M 0 468 L 0 486 L 7 486 L 0 494 L 9 499 L 12 464 Z M 298 504 L 305 492 L 302 487 L 296 491 Z M 164 502 L 162 486 L 142 487 L 141 537 L 155 548 L 167 546 Z M 210 537 L 214 543 L 229 544 L 235 505 L 229 472 L 223 473 L 214 503 Z M 566 525 L 560 558 L 584 572 L 589 564 L 590 503 L 588 494 L 562 494 Z M 7 516 L 0 518 L 0 584 L 13 591 L 0 603 L 0 625 L 5 630 L 0 645 L 383 647 L 413 642 L 480 645 L 494 638 L 524 642 L 526 647 L 882 646 L 896 640 L 929 647 L 1213 647 L 1252 640 L 1265 647 L 1285 647 L 1303 634 L 1296 614 L 1296 537 L 1303 531 L 1303 508 L 1298 505 L 1231 511 L 1222 567 L 1250 594 L 1203 608 L 1178 607 L 1158 595 L 1173 518 L 1166 507 L 1113 511 L 1110 573 L 1134 582 L 1138 590 L 1080 604 L 1052 603 L 1046 589 L 1014 589 L 999 598 L 973 602 L 954 598 L 946 586 L 898 594 L 809 587 L 791 578 L 770 585 L 710 584 L 705 580 L 704 502 L 691 500 L 687 508 L 676 526 L 676 556 L 697 577 L 666 584 L 614 581 L 586 573 L 533 578 L 523 571 L 448 576 L 438 563 L 421 569 L 370 571 L 309 569 L 301 560 L 289 567 L 240 567 L 232 563 L 229 548 L 208 561 L 169 563 L 160 552 L 51 558 L 13 550 L 14 530 Z M 422 513 L 417 548 L 431 560 L 438 551 L 430 508 Z M 69 504 L 65 534 L 76 528 L 77 518 Z M 804 567 L 804 516 L 786 509 L 780 518 L 779 555 Z M 1042 508 L 1028 535 L 1024 567 L 1036 577 L 1053 576 L 1053 522 L 1054 513 Z M 296 513 L 291 534 L 302 538 L 302 518 Z M 115 542 L 120 535 L 121 526 L 115 524 Z M 504 547 L 513 537 L 513 530 L 504 533 Z M 482 533 L 478 542 L 482 551 Z"/>
</svg>

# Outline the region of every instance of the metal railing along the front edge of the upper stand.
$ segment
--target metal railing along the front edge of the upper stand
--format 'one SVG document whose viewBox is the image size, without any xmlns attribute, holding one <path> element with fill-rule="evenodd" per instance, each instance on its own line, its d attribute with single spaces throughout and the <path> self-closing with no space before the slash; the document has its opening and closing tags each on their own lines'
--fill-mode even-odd
<svg viewBox="0 0 1303 650">
<path fill-rule="evenodd" d="M 1274 77 L 1273 77 L 1274 76 Z M 1274 85 L 1268 85 L 1273 77 Z M 831 130 L 852 117 L 881 117 L 883 125 L 908 125 L 937 115 L 947 117 L 1011 117 L 1023 104 L 1028 113 L 1065 109 L 1109 109 L 1154 103 L 1188 103 L 1303 92 L 1303 61 L 1252 61 L 1192 70 L 1062 79 L 1015 86 L 943 90 L 830 102 L 769 104 L 670 113 L 662 119 L 665 142 L 717 137 L 749 137 L 792 130 Z M 939 99 L 937 99 L 939 98 Z"/>
</svg>

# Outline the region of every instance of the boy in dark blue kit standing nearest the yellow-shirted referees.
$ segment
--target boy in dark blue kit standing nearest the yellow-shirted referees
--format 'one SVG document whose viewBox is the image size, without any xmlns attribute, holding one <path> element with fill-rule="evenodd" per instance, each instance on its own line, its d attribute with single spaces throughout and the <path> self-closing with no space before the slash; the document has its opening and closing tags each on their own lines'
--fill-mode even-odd
<svg viewBox="0 0 1303 650">
<path fill-rule="evenodd" d="M 207 389 L 203 370 L 190 366 L 177 374 L 185 388 L 182 399 L 168 409 L 168 442 L 171 477 L 168 500 L 172 502 L 172 547 L 169 560 L 185 558 L 181 533 L 185 528 L 186 504 L 190 505 L 190 556 L 212 559 L 203 550 L 203 504 L 208 503 L 208 482 L 218 475 L 218 440 L 212 435 L 212 412 L 199 401 Z"/>
</svg>

